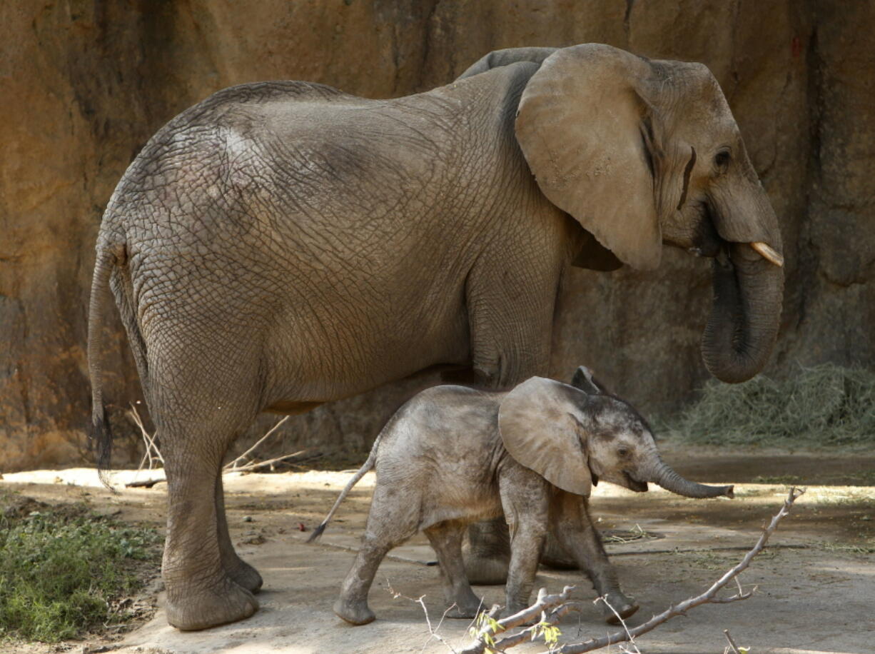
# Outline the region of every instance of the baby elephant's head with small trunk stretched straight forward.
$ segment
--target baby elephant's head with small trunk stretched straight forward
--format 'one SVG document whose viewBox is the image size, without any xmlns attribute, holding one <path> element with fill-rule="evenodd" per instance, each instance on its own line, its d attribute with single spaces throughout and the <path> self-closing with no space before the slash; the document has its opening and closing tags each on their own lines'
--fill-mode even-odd
<svg viewBox="0 0 875 654">
<path fill-rule="evenodd" d="M 685 497 L 732 497 L 732 486 L 690 482 L 669 468 L 647 422 L 602 392 L 585 368 L 573 386 L 531 377 L 507 393 L 499 431 L 507 453 L 554 486 L 588 496 L 599 480 L 645 491 L 648 482 Z"/>
</svg>

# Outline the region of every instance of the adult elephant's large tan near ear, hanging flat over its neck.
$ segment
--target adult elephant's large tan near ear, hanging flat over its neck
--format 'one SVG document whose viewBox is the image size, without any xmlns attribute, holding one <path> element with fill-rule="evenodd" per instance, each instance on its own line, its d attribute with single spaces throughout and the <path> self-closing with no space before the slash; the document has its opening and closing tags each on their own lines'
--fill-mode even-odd
<svg viewBox="0 0 875 654">
<path fill-rule="evenodd" d="M 538 186 L 625 264 L 659 265 L 647 60 L 601 44 L 557 50 L 522 93 L 516 137 Z"/>
</svg>

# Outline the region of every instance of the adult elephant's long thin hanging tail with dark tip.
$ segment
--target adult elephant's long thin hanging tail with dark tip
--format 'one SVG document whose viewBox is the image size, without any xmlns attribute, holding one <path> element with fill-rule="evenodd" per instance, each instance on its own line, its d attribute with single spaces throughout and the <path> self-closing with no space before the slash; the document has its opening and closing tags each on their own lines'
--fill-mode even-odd
<svg viewBox="0 0 875 654">
<path fill-rule="evenodd" d="M 88 438 L 97 454 L 98 475 L 108 489 L 111 489 L 107 470 L 112 456 L 112 431 L 103 406 L 102 345 L 106 301 L 109 297 L 109 275 L 117 263 L 117 258 L 112 250 L 98 250 L 88 305 L 88 376 L 91 379 L 91 429 Z"/>
</svg>

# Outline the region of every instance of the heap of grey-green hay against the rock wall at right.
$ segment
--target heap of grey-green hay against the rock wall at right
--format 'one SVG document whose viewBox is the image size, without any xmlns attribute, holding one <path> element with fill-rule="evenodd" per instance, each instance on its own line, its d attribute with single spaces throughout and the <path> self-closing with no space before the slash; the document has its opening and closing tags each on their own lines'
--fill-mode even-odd
<svg viewBox="0 0 875 654">
<path fill-rule="evenodd" d="M 702 445 L 875 445 L 875 372 L 831 363 L 781 380 L 712 380 L 702 397 L 663 425 L 669 438 Z"/>
</svg>

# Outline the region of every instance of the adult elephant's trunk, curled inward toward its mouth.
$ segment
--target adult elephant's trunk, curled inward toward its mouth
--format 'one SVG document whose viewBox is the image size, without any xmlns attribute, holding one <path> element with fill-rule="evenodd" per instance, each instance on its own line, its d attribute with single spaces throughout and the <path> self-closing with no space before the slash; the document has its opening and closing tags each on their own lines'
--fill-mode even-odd
<svg viewBox="0 0 875 654">
<path fill-rule="evenodd" d="M 716 202 L 716 227 L 729 243 L 714 261 L 714 300 L 702 339 L 705 366 L 728 383 L 745 382 L 766 365 L 784 292 L 781 233 L 766 193 L 757 185 L 742 198 Z"/>
</svg>

